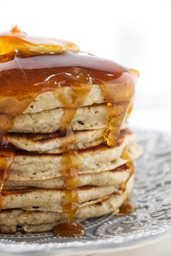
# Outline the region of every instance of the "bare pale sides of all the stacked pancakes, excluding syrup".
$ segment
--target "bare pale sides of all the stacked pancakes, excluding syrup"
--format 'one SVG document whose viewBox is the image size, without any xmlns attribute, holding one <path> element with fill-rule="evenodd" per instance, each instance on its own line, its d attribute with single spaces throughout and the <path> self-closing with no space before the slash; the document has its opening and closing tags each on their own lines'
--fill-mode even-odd
<svg viewBox="0 0 171 256">
<path fill-rule="evenodd" d="M 64 86 L 65 94 L 70 86 Z M 52 91 L 36 96 L 14 118 L 7 139 L 15 149 L 7 180 L 1 191 L 0 231 L 50 231 L 67 216 L 64 202 L 64 145 L 70 135 L 61 132 L 64 105 Z M 79 221 L 116 212 L 133 189 L 131 161 L 141 149 L 127 128 L 128 115 L 122 122 L 117 144 L 104 144 L 107 127 L 107 102 L 101 86 L 93 84 L 72 119 L 75 147 L 81 162 L 78 170 Z M 129 157 L 125 157 L 125 149 Z"/>
</svg>

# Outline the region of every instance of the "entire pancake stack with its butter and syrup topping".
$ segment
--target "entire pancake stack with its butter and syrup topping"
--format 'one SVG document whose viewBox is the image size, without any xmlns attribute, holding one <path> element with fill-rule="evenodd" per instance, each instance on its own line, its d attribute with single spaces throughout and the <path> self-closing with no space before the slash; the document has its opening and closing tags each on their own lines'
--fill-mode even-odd
<svg viewBox="0 0 171 256">
<path fill-rule="evenodd" d="M 66 41 L 0 35 L 0 232 L 83 236 L 133 210 L 135 70 Z"/>
</svg>

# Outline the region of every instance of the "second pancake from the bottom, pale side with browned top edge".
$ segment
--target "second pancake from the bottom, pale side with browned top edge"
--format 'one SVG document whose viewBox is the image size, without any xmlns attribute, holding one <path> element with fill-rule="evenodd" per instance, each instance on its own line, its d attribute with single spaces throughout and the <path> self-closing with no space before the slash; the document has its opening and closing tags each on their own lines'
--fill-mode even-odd
<svg viewBox="0 0 171 256">
<path fill-rule="evenodd" d="M 114 186 L 82 186 L 78 189 L 78 203 L 99 199 L 114 192 L 117 192 Z M 64 194 L 64 189 L 3 190 L 1 209 L 62 212 Z"/>
</svg>

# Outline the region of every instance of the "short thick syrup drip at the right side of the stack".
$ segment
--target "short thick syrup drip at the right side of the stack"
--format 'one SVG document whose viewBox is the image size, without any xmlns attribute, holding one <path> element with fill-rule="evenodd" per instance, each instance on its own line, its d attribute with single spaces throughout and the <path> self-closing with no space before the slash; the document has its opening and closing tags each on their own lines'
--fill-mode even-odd
<svg viewBox="0 0 171 256">
<path fill-rule="evenodd" d="M 104 131 L 104 139 L 107 141 L 108 146 L 114 146 L 120 136 L 122 120 L 126 114 L 129 115 L 132 111 L 130 102 L 134 94 L 134 85 L 132 80 L 120 83 L 120 80 L 116 79 L 114 84 L 102 84 L 101 88 L 104 92 L 108 109 L 107 128 Z"/>
</svg>

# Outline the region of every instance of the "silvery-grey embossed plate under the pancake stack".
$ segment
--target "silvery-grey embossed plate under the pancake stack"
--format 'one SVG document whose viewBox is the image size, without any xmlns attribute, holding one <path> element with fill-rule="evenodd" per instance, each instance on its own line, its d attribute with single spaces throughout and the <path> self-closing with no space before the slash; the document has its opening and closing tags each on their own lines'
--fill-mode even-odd
<svg viewBox="0 0 171 256">
<path fill-rule="evenodd" d="M 135 168 L 133 202 L 136 212 L 117 217 L 105 215 L 83 222 L 83 238 L 54 238 L 40 234 L 0 234 L 0 255 L 70 255 L 94 249 L 118 249 L 171 236 L 171 138 L 153 131 L 136 132 L 143 156 Z"/>
</svg>

